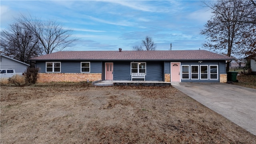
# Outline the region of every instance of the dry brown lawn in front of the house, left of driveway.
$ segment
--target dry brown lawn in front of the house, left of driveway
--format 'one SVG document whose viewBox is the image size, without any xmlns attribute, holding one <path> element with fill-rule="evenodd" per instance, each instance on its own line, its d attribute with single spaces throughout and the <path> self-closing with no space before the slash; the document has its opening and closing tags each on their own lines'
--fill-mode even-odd
<svg viewBox="0 0 256 144">
<path fill-rule="evenodd" d="M 253 144 L 256 136 L 172 87 L 1 86 L 2 144 Z"/>
</svg>

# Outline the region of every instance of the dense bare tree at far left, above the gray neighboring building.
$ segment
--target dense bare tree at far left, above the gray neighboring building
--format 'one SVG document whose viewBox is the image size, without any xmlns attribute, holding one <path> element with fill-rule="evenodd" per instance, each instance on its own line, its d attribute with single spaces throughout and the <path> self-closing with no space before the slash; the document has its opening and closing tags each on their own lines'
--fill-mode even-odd
<svg viewBox="0 0 256 144">
<path fill-rule="evenodd" d="M 28 63 L 27 59 L 38 55 L 38 39 L 30 29 L 14 23 L 1 31 L 1 49 L 5 55 Z"/>
</svg>

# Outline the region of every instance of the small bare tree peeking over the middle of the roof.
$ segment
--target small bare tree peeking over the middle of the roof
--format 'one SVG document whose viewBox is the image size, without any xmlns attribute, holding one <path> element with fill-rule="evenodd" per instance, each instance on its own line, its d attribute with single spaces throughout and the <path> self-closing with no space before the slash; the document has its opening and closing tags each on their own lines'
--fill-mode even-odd
<svg viewBox="0 0 256 144">
<path fill-rule="evenodd" d="M 156 44 L 154 43 L 154 40 L 152 37 L 146 36 L 145 39 L 141 40 L 140 46 L 136 45 L 132 47 L 133 51 L 155 51 L 156 50 Z"/>
</svg>

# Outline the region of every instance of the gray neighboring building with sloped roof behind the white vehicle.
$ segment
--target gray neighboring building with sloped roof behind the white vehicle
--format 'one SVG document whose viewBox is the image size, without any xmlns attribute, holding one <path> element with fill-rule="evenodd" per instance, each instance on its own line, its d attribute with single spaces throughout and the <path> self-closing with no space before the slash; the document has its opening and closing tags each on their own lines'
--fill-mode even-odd
<svg viewBox="0 0 256 144">
<path fill-rule="evenodd" d="M 23 73 L 27 70 L 29 64 L 0 54 L 0 69 L 14 69 L 16 73 Z"/>
</svg>

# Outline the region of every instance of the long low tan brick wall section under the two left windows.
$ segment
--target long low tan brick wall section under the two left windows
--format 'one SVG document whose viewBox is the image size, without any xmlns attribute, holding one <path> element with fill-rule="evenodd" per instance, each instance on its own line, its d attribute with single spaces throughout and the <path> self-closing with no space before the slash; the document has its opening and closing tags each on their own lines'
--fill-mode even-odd
<svg viewBox="0 0 256 144">
<path fill-rule="evenodd" d="M 101 74 L 91 73 L 39 73 L 37 82 L 82 82 L 101 80 Z"/>
</svg>

